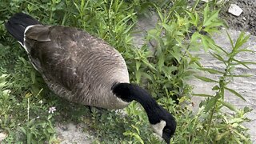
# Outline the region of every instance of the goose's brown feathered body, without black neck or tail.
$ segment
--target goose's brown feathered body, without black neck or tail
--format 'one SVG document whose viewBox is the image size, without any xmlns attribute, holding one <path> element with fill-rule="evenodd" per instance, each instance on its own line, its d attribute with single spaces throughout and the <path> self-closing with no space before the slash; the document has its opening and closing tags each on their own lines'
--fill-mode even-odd
<svg viewBox="0 0 256 144">
<path fill-rule="evenodd" d="M 126 62 L 102 39 L 76 28 L 35 25 L 27 27 L 24 47 L 60 97 L 107 109 L 128 105 L 111 90 L 116 82 L 129 83 Z"/>
</svg>

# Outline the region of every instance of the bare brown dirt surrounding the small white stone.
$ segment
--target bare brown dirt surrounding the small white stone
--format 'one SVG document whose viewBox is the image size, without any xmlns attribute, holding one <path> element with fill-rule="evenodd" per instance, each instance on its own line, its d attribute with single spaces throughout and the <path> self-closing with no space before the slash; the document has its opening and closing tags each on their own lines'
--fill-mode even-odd
<svg viewBox="0 0 256 144">
<path fill-rule="evenodd" d="M 242 10 L 240 16 L 228 13 L 230 4 L 238 5 Z M 255 0 L 230 0 L 221 11 L 221 17 L 226 20 L 230 29 L 244 30 L 256 35 L 256 1 Z"/>
</svg>

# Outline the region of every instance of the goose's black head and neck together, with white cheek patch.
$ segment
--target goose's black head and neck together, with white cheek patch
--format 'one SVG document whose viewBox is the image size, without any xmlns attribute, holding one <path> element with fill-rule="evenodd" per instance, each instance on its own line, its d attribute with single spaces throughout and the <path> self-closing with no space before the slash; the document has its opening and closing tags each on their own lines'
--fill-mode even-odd
<svg viewBox="0 0 256 144">
<path fill-rule="evenodd" d="M 122 101 L 139 102 L 149 118 L 154 133 L 163 138 L 168 144 L 176 130 L 176 122 L 172 114 L 159 106 L 151 95 L 141 87 L 130 83 L 118 83 L 112 86 L 113 93 Z"/>
</svg>

